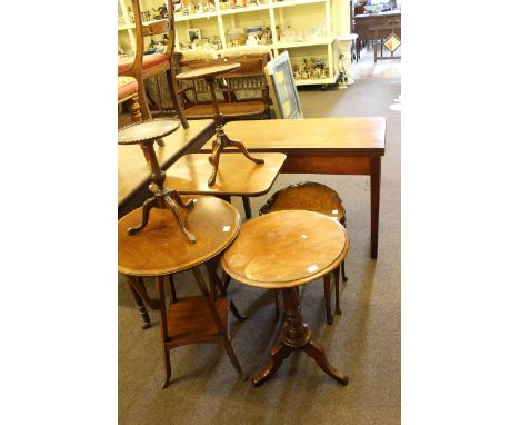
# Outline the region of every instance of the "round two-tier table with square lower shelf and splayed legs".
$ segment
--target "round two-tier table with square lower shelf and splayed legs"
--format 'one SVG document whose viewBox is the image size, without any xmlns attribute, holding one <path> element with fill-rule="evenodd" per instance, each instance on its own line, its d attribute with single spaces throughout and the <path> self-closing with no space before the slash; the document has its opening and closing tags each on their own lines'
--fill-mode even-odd
<svg viewBox="0 0 520 425">
<path fill-rule="evenodd" d="M 147 300 L 153 309 L 160 310 L 160 332 L 164 356 L 166 380 L 170 384 L 170 350 L 187 344 L 218 343 L 224 346 L 231 363 L 241 378 L 246 378 L 228 337 L 228 306 L 242 318 L 232 302 L 217 297 L 217 288 L 222 293 L 218 280 L 214 259 L 237 237 L 240 215 L 228 202 L 211 197 L 194 199 L 197 207 L 182 211 L 186 226 L 197 235 L 197 244 L 190 244 L 170 211 L 152 209 L 148 226 L 134 234 L 128 227 L 141 220 L 142 208 L 138 208 L 119 220 L 118 224 L 118 270 L 129 277 L 132 294 Z M 208 291 L 197 266 L 206 264 L 210 276 Z M 197 283 L 203 295 L 178 298 L 166 306 L 164 276 L 193 269 Z M 152 300 L 139 278 L 154 276 L 159 300 Z M 142 281 L 141 281 L 142 283 Z"/>
</svg>

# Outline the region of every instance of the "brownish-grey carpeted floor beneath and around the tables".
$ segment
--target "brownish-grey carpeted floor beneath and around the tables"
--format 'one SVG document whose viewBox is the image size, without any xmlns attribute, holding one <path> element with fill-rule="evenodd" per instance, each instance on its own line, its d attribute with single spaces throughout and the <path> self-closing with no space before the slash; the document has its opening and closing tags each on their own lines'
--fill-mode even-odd
<svg viewBox="0 0 520 425">
<path fill-rule="evenodd" d="M 387 62 L 388 63 L 388 62 Z M 172 384 L 162 391 L 163 366 L 153 325 L 141 318 L 119 279 L 120 424 L 399 424 L 400 423 L 400 112 L 390 109 L 401 92 L 398 78 L 357 79 L 347 90 L 300 91 L 304 117 L 382 116 L 387 154 L 382 161 L 379 258 L 370 259 L 369 178 L 363 176 L 281 175 L 273 191 L 299 181 L 336 189 L 347 209 L 351 248 L 349 281 L 341 284 L 342 316 L 326 323 L 322 281 L 304 288 L 302 314 L 329 360 L 349 378 L 343 387 L 304 354 L 293 354 L 263 386 L 238 379 L 226 352 L 217 345 L 177 348 L 171 353 Z M 268 125 L 268 123 L 267 123 Z M 252 199 L 253 214 L 268 195 Z M 242 212 L 240 199 L 233 205 Z M 182 274 L 178 295 L 197 293 Z M 150 286 L 151 288 L 151 286 Z M 242 314 L 230 316 L 231 343 L 249 376 L 258 372 L 277 336 L 272 294 L 230 285 Z"/>
</svg>

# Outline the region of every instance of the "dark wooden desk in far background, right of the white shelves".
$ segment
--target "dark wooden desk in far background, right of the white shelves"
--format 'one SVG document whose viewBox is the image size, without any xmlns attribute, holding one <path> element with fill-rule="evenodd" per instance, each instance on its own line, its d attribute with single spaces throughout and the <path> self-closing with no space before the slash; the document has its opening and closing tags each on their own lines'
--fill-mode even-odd
<svg viewBox="0 0 520 425">
<path fill-rule="evenodd" d="M 351 32 L 358 34 L 356 40 L 356 58 L 359 60 L 359 53 L 363 46 L 374 40 L 374 32 L 372 28 L 376 27 L 396 27 L 399 28 L 398 33 L 401 37 L 401 11 L 392 10 L 389 12 L 372 13 L 372 14 L 356 14 L 353 17 L 353 28 Z M 390 34 L 390 30 L 381 31 L 380 38 L 386 38 Z"/>
</svg>

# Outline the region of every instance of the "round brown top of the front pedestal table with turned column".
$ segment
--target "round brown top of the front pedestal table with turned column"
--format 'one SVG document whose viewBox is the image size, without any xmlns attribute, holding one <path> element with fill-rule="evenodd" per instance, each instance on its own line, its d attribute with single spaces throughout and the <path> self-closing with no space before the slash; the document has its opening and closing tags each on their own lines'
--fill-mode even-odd
<svg viewBox="0 0 520 425">
<path fill-rule="evenodd" d="M 287 210 L 247 221 L 221 261 L 242 284 L 283 289 L 329 274 L 348 250 L 348 234 L 337 220 L 318 212 Z"/>
</svg>

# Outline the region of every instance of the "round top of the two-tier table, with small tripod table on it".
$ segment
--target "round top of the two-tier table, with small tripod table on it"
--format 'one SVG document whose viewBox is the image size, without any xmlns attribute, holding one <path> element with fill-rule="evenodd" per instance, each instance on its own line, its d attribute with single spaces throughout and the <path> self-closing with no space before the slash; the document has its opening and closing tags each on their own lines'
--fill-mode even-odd
<svg viewBox="0 0 520 425">
<path fill-rule="evenodd" d="M 188 241 L 169 209 L 152 208 L 147 227 L 128 235 L 129 227 L 141 224 L 142 208 L 138 208 L 118 223 L 118 271 L 132 276 L 169 275 L 209 260 L 233 241 L 240 229 L 237 209 L 219 198 L 190 198 L 196 199 L 194 206 L 179 209 L 197 241 Z"/>
</svg>

